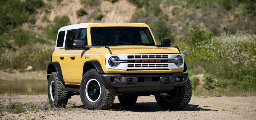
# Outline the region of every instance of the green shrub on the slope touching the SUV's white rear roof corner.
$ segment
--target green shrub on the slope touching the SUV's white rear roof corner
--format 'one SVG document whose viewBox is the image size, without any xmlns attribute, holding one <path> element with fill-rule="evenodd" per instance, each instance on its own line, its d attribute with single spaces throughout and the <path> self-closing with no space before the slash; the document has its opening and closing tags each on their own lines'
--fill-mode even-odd
<svg viewBox="0 0 256 120">
<path fill-rule="evenodd" d="M 51 40 L 55 40 L 57 37 L 58 30 L 63 27 L 69 25 L 69 17 L 64 16 L 56 16 L 53 20 L 53 23 L 48 24 L 46 27 L 46 35 L 47 38 Z"/>
</svg>

